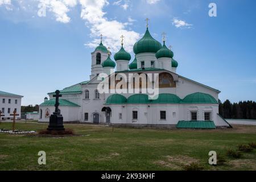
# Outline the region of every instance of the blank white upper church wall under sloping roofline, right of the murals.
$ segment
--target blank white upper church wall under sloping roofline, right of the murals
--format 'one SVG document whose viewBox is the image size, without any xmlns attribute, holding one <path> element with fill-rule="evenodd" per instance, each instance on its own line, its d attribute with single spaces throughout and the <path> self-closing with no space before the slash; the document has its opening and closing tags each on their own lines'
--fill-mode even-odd
<svg viewBox="0 0 256 182">
<path fill-rule="evenodd" d="M 176 82 L 176 92 L 177 96 L 179 96 L 181 99 L 183 99 L 185 96 L 188 96 L 189 94 L 201 92 L 210 94 L 216 99 L 216 101 L 218 101 L 217 91 L 207 88 L 203 85 L 196 84 L 195 82 L 185 80 L 181 77 L 179 77 L 179 81 Z"/>
</svg>

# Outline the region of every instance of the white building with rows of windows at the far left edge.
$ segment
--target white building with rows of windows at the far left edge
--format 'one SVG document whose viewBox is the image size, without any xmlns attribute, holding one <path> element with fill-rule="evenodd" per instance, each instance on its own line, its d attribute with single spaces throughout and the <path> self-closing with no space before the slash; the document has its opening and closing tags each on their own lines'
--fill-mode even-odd
<svg viewBox="0 0 256 182">
<path fill-rule="evenodd" d="M 1 120 L 3 119 L 13 119 L 14 110 L 16 114 L 19 114 L 16 119 L 20 119 L 20 110 L 21 110 L 21 100 L 23 96 L 19 96 L 13 93 L 0 91 L 0 109 L 2 112 Z"/>
</svg>

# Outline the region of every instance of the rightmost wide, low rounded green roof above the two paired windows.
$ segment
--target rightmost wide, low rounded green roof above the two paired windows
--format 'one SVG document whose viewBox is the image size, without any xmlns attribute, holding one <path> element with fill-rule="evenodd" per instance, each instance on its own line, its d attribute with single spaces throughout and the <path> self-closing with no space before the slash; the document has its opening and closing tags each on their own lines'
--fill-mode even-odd
<svg viewBox="0 0 256 182">
<path fill-rule="evenodd" d="M 186 96 L 181 104 L 218 104 L 214 97 L 206 93 L 193 93 Z"/>
</svg>

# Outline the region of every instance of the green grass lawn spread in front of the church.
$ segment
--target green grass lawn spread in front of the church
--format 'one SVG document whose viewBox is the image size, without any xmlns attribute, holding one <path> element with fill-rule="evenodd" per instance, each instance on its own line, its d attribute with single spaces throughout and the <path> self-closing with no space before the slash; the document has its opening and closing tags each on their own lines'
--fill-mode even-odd
<svg viewBox="0 0 256 182">
<path fill-rule="evenodd" d="M 11 129 L 11 123 L 0 123 Z M 16 129 L 46 129 L 47 124 L 18 122 Z M 226 156 L 238 144 L 256 142 L 256 126 L 225 130 L 118 129 L 65 125 L 83 136 L 67 138 L 26 137 L 0 133 L 0 170 L 180 170 L 196 162 L 206 170 L 256 170 L 256 149 L 241 159 Z M 208 164 L 209 151 L 222 154 L 223 166 Z M 39 166 L 38 152 L 47 164 Z"/>
</svg>

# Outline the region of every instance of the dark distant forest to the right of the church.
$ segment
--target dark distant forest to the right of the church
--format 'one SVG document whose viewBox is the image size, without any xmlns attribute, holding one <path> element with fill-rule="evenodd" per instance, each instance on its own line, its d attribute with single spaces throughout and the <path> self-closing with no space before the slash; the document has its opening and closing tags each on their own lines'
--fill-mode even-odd
<svg viewBox="0 0 256 182">
<path fill-rule="evenodd" d="M 226 100 L 221 103 L 219 100 L 218 112 L 225 119 L 256 119 L 256 102 L 240 101 L 231 103 Z"/>
</svg>

